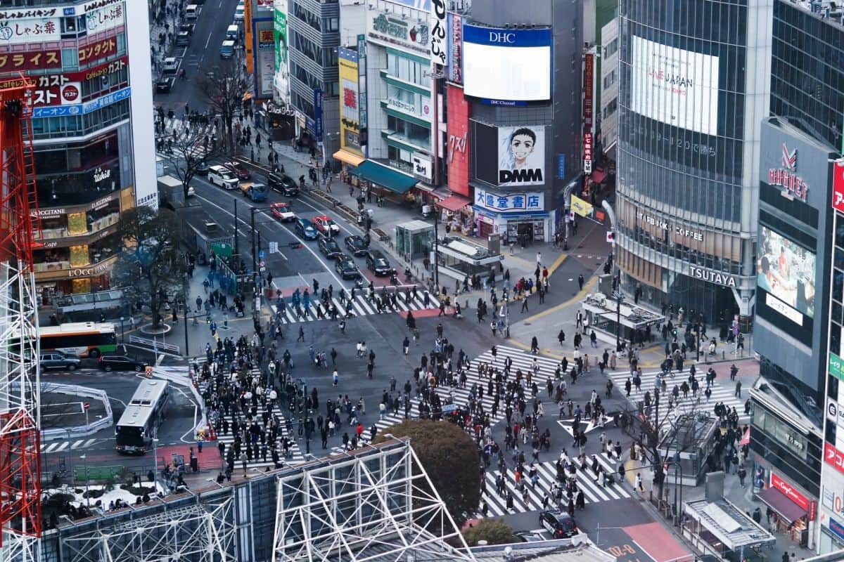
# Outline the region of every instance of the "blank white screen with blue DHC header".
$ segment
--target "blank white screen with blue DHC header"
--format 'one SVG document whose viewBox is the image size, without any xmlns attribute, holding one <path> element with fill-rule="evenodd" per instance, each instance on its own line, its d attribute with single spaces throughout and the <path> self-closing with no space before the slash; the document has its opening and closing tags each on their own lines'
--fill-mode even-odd
<svg viewBox="0 0 844 562">
<path fill-rule="evenodd" d="M 466 24 L 463 93 L 511 102 L 550 99 L 550 29 L 500 29 Z"/>
</svg>

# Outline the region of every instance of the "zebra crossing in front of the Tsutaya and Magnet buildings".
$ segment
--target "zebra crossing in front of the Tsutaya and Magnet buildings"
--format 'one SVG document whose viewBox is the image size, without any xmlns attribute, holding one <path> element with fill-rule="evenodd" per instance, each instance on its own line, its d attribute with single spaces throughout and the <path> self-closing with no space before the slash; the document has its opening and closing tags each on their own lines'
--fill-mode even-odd
<svg viewBox="0 0 844 562">
<path fill-rule="evenodd" d="M 637 404 L 639 402 L 642 402 L 644 404 L 646 392 L 650 392 L 651 396 L 653 397 L 653 389 L 656 385 L 657 375 L 660 373 L 661 371 L 642 372 L 640 390 L 637 392 L 636 387 L 632 386 L 630 388 L 630 397 L 628 397 L 628 400 L 630 400 L 632 404 Z M 609 376 L 613 379 L 615 389 L 620 393 L 625 393 L 625 382 L 627 381 L 629 373 L 614 371 L 609 372 Z M 711 396 L 709 400 L 706 400 L 706 394 L 704 393 L 706 391 L 706 371 L 703 370 L 698 371 L 695 375 L 698 380 L 698 383 L 701 385 L 700 388 L 698 388 L 697 396 L 695 397 L 690 390 L 688 397 L 684 398 L 683 393 L 680 392 L 679 399 L 674 401 L 672 408 L 669 410 L 668 397 L 671 397 L 673 399 L 673 396 L 671 396 L 671 391 L 674 388 L 674 385 L 676 384 L 680 386 L 684 383 L 684 381 L 688 383 L 688 377 L 689 372 L 688 370 L 686 370 L 682 373 L 675 372 L 674 377 L 668 375 L 668 377 L 665 378 L 668 395 L 665 395 L 663 391 L 660 390 L 659 408 L 657 411 L 658 420 L 675 419 L 679 415 L 686 414 L 691 411 L 698 411 L 701 413 L 711 414 L 712 409 L 718 402 L 722 402 L 729 409 L 735 408 L 738 412 L 738 420 L 740 422 L 742 422 L 743 420 L 747 420 L 747 416 L 744 415 L 744 401 L 748 397 L 746 395 L 741 398 L 736 396 L 735 383 L 729 381 L 728 379 L 724 380 L 726 379 L 724 375 L 721 375 L 722 380 L 720 382 L 718 378 L 716 378 L 715 381 L 711 384 Z M 630 380 L 632 383 L 632 378 Z M 651 408 L 653 411 L 653 404 Z"/>
</svg>

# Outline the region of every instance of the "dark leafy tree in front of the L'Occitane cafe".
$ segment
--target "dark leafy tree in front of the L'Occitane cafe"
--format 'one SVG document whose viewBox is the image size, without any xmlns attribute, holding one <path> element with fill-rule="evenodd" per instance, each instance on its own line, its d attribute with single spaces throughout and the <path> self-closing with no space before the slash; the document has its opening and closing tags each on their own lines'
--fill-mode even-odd
<svg viewBox="0 0 844 562">
<path fill-rule="evenodd" d="M 115 274 L 122 280 L 123 298 L 130 307 L 138 302 L 149 305 L 153 329 L 159 329 L 168 297 L 187 294 L 179 218 L 164 208 L 138 206 L 123 213 L 117 232 L 122 253 Z"/>
</svg>

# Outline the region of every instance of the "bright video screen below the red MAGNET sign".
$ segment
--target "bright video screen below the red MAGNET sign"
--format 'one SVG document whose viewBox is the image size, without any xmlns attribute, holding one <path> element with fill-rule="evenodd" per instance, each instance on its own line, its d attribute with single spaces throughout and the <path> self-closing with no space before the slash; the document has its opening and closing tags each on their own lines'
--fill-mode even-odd
<svg viewBox="0 0 844 562">
<path fill-rule="evenodd" d="M 756 258 L 756 285 L 789 308 L 814 318 L 814 259 L 815 255 L 808 249 L 762 227 Z M 778 302 L 766 303 L 790 317 L 789 311 L 782 309 Z"/>
</svg>

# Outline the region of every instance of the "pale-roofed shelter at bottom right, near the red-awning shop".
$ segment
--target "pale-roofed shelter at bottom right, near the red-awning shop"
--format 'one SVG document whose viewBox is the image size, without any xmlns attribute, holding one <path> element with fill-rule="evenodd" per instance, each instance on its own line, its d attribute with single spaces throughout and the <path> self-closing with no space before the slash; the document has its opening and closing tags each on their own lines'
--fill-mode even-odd
<svg viewBox="0 0 844 562">
<path fill-rule="evenodd" d="M 694 500 L 683 504 L 683 535 L 706 554 L 730 562 L 762 559 L 760 551 L 776 543 L 764 527 L 723 498 Z"/>
</svg>

